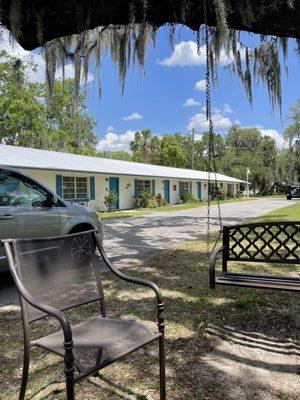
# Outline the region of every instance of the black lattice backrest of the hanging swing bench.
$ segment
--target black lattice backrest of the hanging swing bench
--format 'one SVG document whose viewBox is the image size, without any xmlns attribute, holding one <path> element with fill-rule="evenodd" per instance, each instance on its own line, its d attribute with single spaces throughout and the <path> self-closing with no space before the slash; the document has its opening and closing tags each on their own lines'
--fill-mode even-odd
<svg viewBox="0 0 300 400">
<path fill-rule="evenodd" d="M 300 222 L 226 226 L 223 261 L 300 264 Z"/>
</svg>

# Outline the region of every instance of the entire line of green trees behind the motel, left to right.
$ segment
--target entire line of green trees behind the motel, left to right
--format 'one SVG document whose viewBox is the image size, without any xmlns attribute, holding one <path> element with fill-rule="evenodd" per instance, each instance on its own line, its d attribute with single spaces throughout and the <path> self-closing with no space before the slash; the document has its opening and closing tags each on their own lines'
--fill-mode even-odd
<svg viewBox="0 0 300 400">
<path fill-rule="evenodd" d="M 32 83 L 28 68 L 0 53 L 0 142 L 40 149 L 98 155 L 177 168 L 208 170 L 209 134 L 182 135 L 180 132 L 153 135 L 150 129 L 135 133 L 131 152 L 98 151 L 94 133 L 96 121 L 86 109 L 82 92 L 75 96 L 73 80 L 55 81 L 49 97 L 45 83 Z M 220 173 L 246 178 L 250 167 L 252 187 L 269 193 L 276 185 L 299 181 L 300 100 L 291 107 L 291 124 L 284 132 L 287 147 L 257 128 L 233 126 L 226 135 L 215 135 L 216 168 Z"/>
</svg>

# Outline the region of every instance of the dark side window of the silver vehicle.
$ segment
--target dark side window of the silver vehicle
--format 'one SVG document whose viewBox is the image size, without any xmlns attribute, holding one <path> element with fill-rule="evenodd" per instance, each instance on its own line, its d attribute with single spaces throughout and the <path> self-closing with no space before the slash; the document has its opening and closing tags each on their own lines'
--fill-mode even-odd
<svg viewBox="0 0 300 400">
<path fill-rule="evenodd" d="M 26 177 L 14 172 L 0 171 L 0 206 L 46 207 L 48 192 Z"/>
</svg>

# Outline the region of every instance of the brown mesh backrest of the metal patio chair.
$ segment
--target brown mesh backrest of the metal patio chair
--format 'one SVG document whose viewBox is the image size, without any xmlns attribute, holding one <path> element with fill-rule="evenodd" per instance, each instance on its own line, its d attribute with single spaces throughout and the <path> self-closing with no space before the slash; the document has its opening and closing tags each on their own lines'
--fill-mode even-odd
<svg viewBox="0 0 300 400">
<path fill-rule="evenodd" d="M 99 300 L 103 311 L 104 295 L 93 235 L 89 231 L 14 240 L 16 272 L 31 296 L 59 310 Z M 26 302 L 25 308 L 28 322 L 45 316 Z"/>
</svg>

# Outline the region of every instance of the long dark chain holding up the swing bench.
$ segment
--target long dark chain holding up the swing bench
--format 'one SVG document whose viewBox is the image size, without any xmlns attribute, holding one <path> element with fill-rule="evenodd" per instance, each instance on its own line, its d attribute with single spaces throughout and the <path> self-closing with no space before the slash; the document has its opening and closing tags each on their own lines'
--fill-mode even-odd
<svg viewBox="0 0 300 400">
<path fill-rule="evenodd" d="M 214 195 L 214 190 L 218 188 L 217 182 L 217 171 L 216 171 L 216 162 L 215 162 L 215 132 L 214 132 L 214 123 L 212 119 L 212 106 L 211 106 L 211 90 L 210 90 L 210 47 L 209 47 L 209 29 L 207 25 L 207 9 L 206 9 L 206 0 L 203 2 L 204 8 L 204 21 L 205 21 L 205 47 L 206 47 L 206 120 L 208 121 L 208 130 L 209 130 L 209 144 L 208 144 L 208 201 L 207 201 L 207 257 L 210 257 L 210 241 L 211 241 L 211 200 Z M 197 36 L 198 38 L 198 36 Z M 214 190 L 211 192 L 211 173 L 214 173 Z M 212 194 L 212 196 L 211 196 Z M 218 207 L 218 217 L 219 217 L 219 226 L 220 231 L 222 231 L 222 214 L 221 214 L 221 206 L 220 200 L 217 196 L 217 207 Z"/>
</svg>

